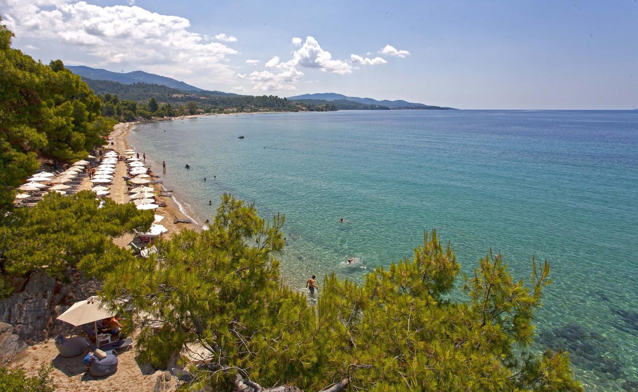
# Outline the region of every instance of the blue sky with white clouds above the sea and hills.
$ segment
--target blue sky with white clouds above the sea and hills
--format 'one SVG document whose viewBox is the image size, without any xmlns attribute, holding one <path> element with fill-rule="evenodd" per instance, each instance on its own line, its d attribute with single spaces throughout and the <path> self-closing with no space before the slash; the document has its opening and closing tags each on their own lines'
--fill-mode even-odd
<svg viewBox="0 0 638 392">
<path fill-rule="evenodd" d="M 13 47 L 202 89 L 638 108 L 638 3 L 0 0 Z"/>
</svg>

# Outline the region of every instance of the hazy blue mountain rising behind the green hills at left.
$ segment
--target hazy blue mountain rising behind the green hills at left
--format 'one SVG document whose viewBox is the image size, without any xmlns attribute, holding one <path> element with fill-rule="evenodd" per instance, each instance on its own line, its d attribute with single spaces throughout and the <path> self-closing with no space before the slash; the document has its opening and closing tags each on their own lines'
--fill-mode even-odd
<svg viewBox="0 0 638 392">
<path fill-rule="evenodd" d="M 144 71 L 118 73 L 107 71 L 106 69 L 91 68 L 87 66 L 66 66 L 66 68 L 70 69 L 71 72 L 76 75 L 84 76 L 85 78 L 93 80 L 110 80 L 112 82 L 120 82 L 124 84 L 159 84 L 181 91 L 205 91 L 204 89 L 199 89 L 198 87 L 191 86 L 173 78 L 167 78 L 166 76 L 155 75 L 154 73 L 147 73 Z"/>
</svg>

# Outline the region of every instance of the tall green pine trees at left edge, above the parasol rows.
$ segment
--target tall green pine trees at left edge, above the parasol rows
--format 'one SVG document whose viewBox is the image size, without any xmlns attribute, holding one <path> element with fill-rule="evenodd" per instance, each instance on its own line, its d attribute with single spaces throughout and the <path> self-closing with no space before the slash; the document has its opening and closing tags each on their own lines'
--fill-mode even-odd
<svg viewBox="0 0 638 392">
<path fill-rule="evenodd" d="M 45 65 L 11 48 L 12 37 L 0 25 L 0 209 L 38 159 L 86 157 L 115 124 L 101 116 L 100 99 L 80 76 L 59 60 Z"/>
</svg>

